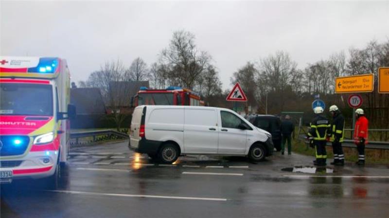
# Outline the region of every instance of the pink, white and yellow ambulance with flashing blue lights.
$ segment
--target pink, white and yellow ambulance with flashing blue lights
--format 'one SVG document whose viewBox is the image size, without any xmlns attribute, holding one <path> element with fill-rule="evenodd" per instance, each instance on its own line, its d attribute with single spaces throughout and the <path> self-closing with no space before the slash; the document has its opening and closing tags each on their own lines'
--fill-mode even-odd
<svg viewBox="0 0 389 218">
<path fill-rule="evenodd" d="M 66 60 L 0 56 L 0 182 L 47 178 L 56 186 L 75 113 Z"/>
</svg>

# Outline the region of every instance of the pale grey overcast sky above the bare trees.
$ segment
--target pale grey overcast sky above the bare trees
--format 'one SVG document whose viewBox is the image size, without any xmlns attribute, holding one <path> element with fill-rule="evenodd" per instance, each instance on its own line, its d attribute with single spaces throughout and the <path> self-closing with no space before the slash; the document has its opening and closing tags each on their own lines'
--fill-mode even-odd
<svg viewBox="0 0 389 218">
<path fill-rule="evenodd" d="M 304 68 L 389 40 L 389 1 L 1 1 L 0 19 L 1 55 L 66 58 L 75 82 L 109 60 L 156 62 L 177 30 L 212 55 L 224 89 L 247 61 L 277 50 Z"/>
</svg>

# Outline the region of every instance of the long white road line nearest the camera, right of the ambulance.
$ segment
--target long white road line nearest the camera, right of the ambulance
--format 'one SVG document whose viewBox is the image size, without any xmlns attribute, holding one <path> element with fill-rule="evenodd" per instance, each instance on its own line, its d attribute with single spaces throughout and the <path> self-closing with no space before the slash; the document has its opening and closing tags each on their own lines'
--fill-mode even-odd
<svg viewBox="0 0 389 218">
<path fill-rule="evenodd" d="M 46 191 L 66 193 L 66 194 L 114 196 L 114 197 L 129 197 L 129 198 L 159 198 L 159 199 L 200 200 L 200 201 L 227 201 L 228 200 L 225 198 L 196 198 L 196 197 L 162 196 L 162 195 L 130 195 L 130 194 L 85 192 L 85 191 L 65 191 L 65 190 L 46 190 Z"/>
</svg>

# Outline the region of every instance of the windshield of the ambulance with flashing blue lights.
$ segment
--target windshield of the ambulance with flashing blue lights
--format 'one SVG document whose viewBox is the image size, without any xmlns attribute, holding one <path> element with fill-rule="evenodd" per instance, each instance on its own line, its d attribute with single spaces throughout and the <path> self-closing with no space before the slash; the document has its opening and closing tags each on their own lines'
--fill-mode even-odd
<svg viewBox="0 0 389 218">
<path fill-rule="evenodd" d="M 53 116 L 53 89 L 48 84 L 0 84 L 1 115 Z"/>
</svg>

